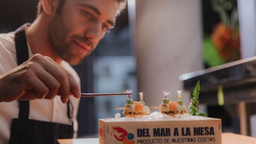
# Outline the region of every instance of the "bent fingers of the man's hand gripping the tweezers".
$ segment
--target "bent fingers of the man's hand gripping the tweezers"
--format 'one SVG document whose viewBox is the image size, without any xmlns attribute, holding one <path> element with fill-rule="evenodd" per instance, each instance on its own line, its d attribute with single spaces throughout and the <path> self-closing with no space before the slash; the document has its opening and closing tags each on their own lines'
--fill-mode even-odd
<svg viewBox="0 0 256 144">
<path fill-rule="evenodd" d="M 67 103 L 70 94 L 74 95 L 76 98 L 81 96 L 79 84 L 70 72 L 59 66 L 49 57 L 39 55 L 34 60 L 41 63 L 46 71 L 44 72 L 42 69 L 37 69 L 38 77 L 49 88 L 49 93 L 45 98 L 52 99 L 58 94 L 61 96 L 61 101 Z"/>
</svg>

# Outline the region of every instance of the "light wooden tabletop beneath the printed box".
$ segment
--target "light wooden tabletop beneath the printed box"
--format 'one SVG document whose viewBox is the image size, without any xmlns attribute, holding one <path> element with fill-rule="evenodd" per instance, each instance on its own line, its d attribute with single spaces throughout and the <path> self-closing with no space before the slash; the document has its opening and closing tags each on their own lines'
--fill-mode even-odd
<svg viewBox="0 0 256 144">
<path fill-rule="evenodd" d="M 99 144 L 99 138 L 59 139 L 58 144 Z M 256 144 L 256 138 L 234 133 L 222 133 L 222 144 Z"/>
</svg>

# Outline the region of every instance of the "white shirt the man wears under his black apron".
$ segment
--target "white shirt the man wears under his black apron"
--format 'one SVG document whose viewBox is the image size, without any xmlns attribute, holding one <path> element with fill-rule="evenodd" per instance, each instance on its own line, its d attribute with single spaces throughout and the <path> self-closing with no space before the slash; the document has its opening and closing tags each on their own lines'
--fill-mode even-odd
<svg viewBox="0 0 256 144">
<path fill-rule="evenodd" d="M 0 75 L 9 72 L 17 67 L 16 49 L 15 49 L 15 32 L 8 34 L 0 34 Z M 29 58 L 32 57 L 32 52 L 29 49 Z M 61 62 L 67 71 L 69 71 L 75 80 L 80 85 L 80 79 L 76 71 L 64 60 Z M 9 89 L 12 90 L 12 89 Z M 73 104 L 73 121 L 74 121 L 74 137 L 78 130 L 76 115 L 78 112 L 79 99 L 70 96 L 70 101 Z M 37 99 L 29 102 L 29 119 L 38 121 L 55 122 L 61 124 L 71 124 L 67 116 L 67 104 L 63 104 L 59 96 L 52 100 Z M 19 103 L 18 101 L 0 102 L 0 144 L 8 144 L 12 119 L 18 118 Z"/>
</svg>

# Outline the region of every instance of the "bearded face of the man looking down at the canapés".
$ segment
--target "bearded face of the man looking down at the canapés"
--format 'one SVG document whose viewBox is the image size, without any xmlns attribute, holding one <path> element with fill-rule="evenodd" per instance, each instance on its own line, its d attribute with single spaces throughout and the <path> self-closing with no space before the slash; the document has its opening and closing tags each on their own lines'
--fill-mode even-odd
<svg viewBox="0 0 256 144">
<path fill-rule="evenodd" d="M 118 6 L 117 0 L 66 0 L 48 29 L 57 55 L 72 65 L 78 64 L 113 28 Z"/>
</svg>

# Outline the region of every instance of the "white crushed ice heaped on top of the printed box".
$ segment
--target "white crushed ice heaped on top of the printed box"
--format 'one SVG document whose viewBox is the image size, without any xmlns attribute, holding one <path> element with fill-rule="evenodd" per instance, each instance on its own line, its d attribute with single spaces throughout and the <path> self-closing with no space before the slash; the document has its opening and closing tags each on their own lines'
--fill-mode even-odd
<svg viewBox="0 0 256 144">
<path fill-rule="evenodd" d="M 135 118 L 131 117 L 122 117 L 121 115 L 117 113 L 115 115 L 115 118 L 108 118 L 108 121 L 118 122 L 118 121 L 180 121 L 180 120 L 208 120 L 211 118 L 208 117 L 202 117 L 202 116 L 194 116 L 190 114 L 177 114 L 175 117 L 171 117 L 169 115 L 163 115 L 160 112 L 153 112 L 150 115 L 144 115 L 144 116 L 137 116 Z"/>
</svg>

